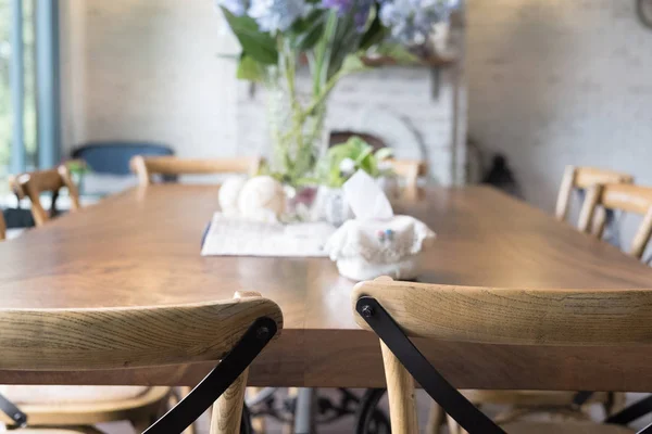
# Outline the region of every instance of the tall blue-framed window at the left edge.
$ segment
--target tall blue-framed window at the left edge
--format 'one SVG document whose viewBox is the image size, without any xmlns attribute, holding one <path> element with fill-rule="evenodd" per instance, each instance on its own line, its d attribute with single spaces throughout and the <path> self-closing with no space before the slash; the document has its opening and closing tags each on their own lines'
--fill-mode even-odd
<svg viewBox="0 0 652 434">
<path fill-rule="evenodd" d="M 0 0 L 0 179 L 57 163 L 57 0 Z"/>
</svg>

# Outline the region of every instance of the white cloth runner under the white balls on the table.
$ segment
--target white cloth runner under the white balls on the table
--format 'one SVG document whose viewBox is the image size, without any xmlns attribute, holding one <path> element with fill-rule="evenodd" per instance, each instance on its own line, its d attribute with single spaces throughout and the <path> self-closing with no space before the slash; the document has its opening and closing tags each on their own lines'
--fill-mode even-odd
<svg viewBox="0 0 652 434">
<path fill-rule="evenodd" d="M 215 213 L 201 255 L 327 257 L 324 245 L 334 231 L 325 222 L 283 225 Z"/>
</svg>

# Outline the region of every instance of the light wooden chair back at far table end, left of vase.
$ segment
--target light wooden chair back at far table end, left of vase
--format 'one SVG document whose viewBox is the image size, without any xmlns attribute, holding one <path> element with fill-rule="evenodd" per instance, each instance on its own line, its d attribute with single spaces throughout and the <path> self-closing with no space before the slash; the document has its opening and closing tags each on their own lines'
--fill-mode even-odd
<svg viewBox="0 0 652 434">
<path fill-rule="evenodd" d="M 145 157 L 137 155 L 131 158 L 131 171 L 138 176 L 141 186 L 152 183 L 152 177 L 177 177 L 179 175 L 213 175 L 213 174 L 249 174 L 254 175 L 261 164 L 255 157 L 187 159 L 175 156 Z"/>
</svg>

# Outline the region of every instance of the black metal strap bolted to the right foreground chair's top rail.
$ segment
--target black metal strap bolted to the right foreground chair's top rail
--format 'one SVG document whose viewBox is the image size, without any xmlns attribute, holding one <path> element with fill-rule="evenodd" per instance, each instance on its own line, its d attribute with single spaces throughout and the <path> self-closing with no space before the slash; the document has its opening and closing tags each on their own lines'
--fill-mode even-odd
<svg viewBox="0 0 652 434">
<path fill-rule="evenodd" d="M 505 434 L 430 365 L 376 298 L 360 297 L 355 310 L 403 363 L 414 380 L 464 430 L 471 434 Z"/>
</svg>

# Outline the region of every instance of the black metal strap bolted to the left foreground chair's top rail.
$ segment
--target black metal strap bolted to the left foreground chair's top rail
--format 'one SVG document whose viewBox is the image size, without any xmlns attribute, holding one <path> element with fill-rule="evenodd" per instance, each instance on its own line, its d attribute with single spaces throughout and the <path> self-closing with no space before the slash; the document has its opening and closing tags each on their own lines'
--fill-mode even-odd
<svg viewBox="0 0 652 434">
<path fill-rule="evenodd" d="M 180 434 L 240 376 L 276 332 L 276 321 L 256 319 L 220 365 L 142 434 Z"/>
</svg>

